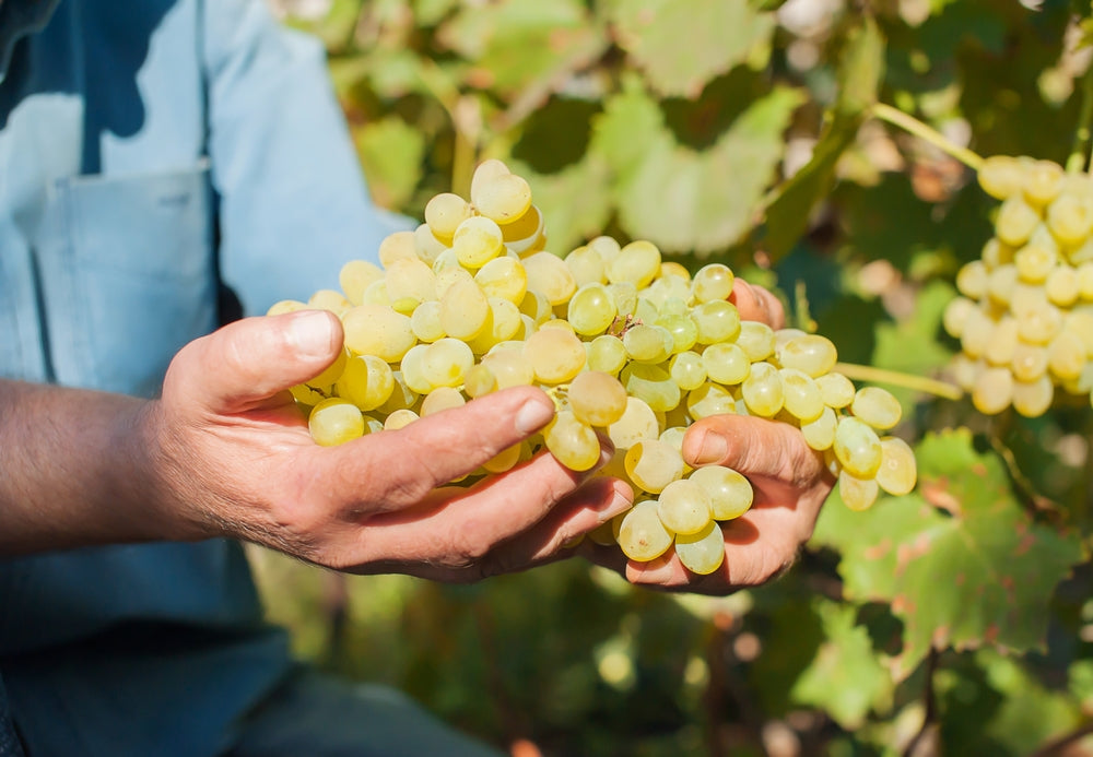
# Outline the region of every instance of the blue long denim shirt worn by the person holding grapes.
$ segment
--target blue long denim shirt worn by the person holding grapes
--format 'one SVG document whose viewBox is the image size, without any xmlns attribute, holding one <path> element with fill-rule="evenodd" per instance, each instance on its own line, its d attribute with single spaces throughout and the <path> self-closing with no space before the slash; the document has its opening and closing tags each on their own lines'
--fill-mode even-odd
<svg viewBox="0 0 1093 757">
<path fill-rule="evenodd" d="M 262 0 L 3 0 L 0 46 L 0 375 L 154 395 L 224 285 L 306 298 L 400 225 Z M 32 753 L 214 754 L 286 665 L 232 542 L 0 560 Z"/>
</svg>

